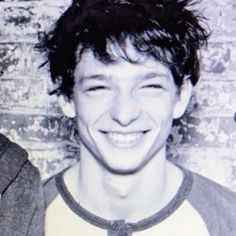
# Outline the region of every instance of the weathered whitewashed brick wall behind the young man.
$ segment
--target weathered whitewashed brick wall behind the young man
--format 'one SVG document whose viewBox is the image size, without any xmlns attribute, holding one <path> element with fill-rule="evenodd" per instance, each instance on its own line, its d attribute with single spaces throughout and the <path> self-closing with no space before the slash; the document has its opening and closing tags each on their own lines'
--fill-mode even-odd
<svg viewBox="0 0 236 236">
<path fill-rule="evenodd" d="M 70 0 L 0 1 L 0 132 L 20 143 L 47 178 L 76 161 L 73 121 L 50 89 L 34 49 Z M 236 2 L 203 0 L 212 35 L 201 81 L 170 137 L 170 158 L 236 191 Z"/>
</svg>

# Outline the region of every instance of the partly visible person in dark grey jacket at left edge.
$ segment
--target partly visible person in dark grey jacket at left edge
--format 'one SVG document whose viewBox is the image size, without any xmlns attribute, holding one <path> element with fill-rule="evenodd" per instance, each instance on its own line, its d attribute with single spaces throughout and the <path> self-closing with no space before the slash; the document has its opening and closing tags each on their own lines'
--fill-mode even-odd
<svg viewBox="0 0 236 236">
<path fill-rule="evenodd" d="M 41 236 L 43 190 L 27 152 L 0 134 L 0 235 Z"/>
</svg>

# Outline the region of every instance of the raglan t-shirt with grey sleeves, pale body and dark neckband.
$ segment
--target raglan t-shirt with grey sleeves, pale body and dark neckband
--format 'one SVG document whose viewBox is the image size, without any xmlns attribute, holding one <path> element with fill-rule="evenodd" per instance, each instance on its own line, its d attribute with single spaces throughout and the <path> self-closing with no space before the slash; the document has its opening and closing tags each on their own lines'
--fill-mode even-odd
<svg viewBox="0 0 236 236">
<path fill-rule="evenodd" d="M 45 185 L 45 236 L 235 236 L 236 194 L 196 173 L 183 172 L 169 204 L 136 223 L 88 212 L 68 191 L 63 173 L 58 174 Z"/>
</svg>

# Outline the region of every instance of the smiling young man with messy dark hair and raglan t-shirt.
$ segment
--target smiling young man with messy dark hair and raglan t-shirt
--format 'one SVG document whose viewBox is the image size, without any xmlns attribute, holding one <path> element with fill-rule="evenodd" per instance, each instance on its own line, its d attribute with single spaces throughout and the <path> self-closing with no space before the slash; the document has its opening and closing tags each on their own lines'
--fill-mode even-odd
<svg viewBox="0 0 236 236">
<path fill-rule="evenodd" d="M 173 165 L 166 140 L 207 33 L 188 0 L 73 1 L 45 38 L 80 161 L 46 187 L 47 236 L 236 235 L 236 196 Z"/>
</svg>

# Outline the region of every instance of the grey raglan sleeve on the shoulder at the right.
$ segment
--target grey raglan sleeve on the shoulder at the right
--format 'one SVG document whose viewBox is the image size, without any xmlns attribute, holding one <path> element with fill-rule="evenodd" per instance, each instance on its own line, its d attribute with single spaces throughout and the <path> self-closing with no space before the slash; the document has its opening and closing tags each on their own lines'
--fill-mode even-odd
<svg viewBox="0 0 236 236">
<path fill-rule="evenodd" d="M 236 193 L 199 174 L 192 176 L 188 201 L 202 216 L 211 235 L 236 235 Z"/>
</svg>

